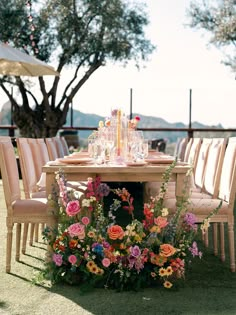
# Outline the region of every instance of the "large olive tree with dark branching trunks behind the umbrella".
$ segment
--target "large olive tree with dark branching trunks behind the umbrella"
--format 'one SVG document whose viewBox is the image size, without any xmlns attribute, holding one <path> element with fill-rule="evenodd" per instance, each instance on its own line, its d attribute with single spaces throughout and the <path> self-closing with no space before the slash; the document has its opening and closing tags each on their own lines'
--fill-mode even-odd
<svg viewBox="0 0 236 315">
<path fill-rule="evenodd" d="M 25 77 L 4 76 L 0 86 L 13 107 L 22 136 L 55 136 L 66 123 L 76 93 L 108 62 L 146 61 L 155 47 L 145 38 L 148 16 L 143 3 L 128 0 L 1 0 L 1 41 L 38 59 L 56 63 L 61 76 L 38 77 L 40 95 Z M 63 87 L 63 69 L 73 70 Z M 64 79 L 64 78 L 63 78 Z M 17 97 L 11 93 L 17 89 Z"/>
</svg>

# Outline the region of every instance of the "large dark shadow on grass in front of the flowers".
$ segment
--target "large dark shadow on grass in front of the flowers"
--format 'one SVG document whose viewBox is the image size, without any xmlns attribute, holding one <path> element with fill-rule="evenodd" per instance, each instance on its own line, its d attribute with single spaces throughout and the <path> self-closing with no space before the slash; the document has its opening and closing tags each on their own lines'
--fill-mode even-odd
<svg viewBox="0 0 236 315">
<path fill-rule="evenodd" d="M 138 292 L 94 289 L 82 294 L 80 286 L 66 284 L 48 290 L 96 315 L 236 314 L 236 274 L 211 250 L 204 251 L 202 260 L 194 259 L 185 281 L 170 290 L 159 286 Z"/>
</svg>

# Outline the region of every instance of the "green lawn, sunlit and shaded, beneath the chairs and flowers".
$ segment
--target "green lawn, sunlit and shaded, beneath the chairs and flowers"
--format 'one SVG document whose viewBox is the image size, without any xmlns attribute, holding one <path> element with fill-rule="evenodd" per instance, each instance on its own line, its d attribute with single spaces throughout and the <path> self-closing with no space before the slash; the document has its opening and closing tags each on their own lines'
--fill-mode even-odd
<svg viewBox="0 0 236 315">
<path fill-rule="evenodd" d="M 78 286 L 34 285 L 32 279 L 42 269 L 46 252 L 42 242 L 28 246 L 20 262 L 14 260 L 13 246 L 12 269 L 6 274 L 6 209 L 2 185 L 0 196 L 0 314 L 236 314 L 236 273 L 229 269 L 228 252 L 226 262 L 222 263 L 212 254 L 211 247 L 203 249 L 202 260 L 193 260 L 185 281 L 171 290 L 148 288 L 118 293 L 95 289 L 81 294 Z"/>
</svg>

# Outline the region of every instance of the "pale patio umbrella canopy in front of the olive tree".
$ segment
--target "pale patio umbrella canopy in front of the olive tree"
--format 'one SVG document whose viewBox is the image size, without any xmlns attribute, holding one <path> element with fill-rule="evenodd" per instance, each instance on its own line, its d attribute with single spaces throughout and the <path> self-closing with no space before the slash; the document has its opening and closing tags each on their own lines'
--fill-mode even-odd
<svg viewBox="0 0 236 315">
<path fill-rule="evenodd" d="M 45 62 L 0 43 L 0 74 L 12 76 L 59 76 L 59 72 Z"/>
</svg>

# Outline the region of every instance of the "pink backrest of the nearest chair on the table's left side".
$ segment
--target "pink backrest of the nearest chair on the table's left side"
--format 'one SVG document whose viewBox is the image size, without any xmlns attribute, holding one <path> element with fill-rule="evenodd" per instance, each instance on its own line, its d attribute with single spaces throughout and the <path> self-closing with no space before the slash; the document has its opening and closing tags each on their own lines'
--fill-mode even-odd
<svg viewBox="0 0 236 315">
<path fill-rule="evenodd" d="M 19 172 L 11 138 L 0 136 L 0 168 L 7 210 L 12 202 L 21 198 Z"/>
</svg>

